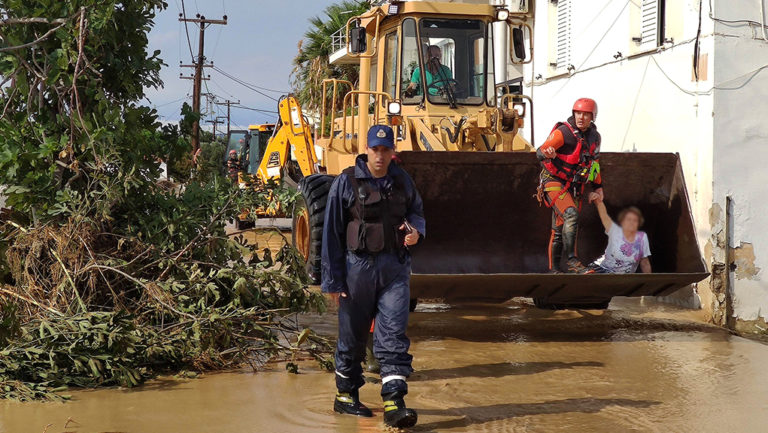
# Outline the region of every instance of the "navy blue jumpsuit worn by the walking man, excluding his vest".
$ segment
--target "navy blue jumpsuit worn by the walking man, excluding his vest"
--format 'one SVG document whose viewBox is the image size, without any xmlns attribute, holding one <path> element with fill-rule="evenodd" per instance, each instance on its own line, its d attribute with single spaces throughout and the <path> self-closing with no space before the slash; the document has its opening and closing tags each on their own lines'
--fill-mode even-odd
<svg viewBox="0 0 768 433">
<path fill-rule="evenodd" d="M 367 179 L 374 188 L 388 189 L 399 179 L 406 195 L 406 220 L 424 236 L 425 220 L 421 196 L 413 180 L 394 162 L 387 175 L 374 179 L 368 170 L 367 155 L 355 161 L 355 177 Z M 373 352 L 381 364 L 382 395 L 407 393 L 406 378 L 413 369 L 405 335 L 410 303 L 411 257 L 407 250 L 376 255 L 347 251 L 348 211 L 356 192 L 346 174 L 331 185 L 325 211 L 322 248 L 322 289 L 324 293 L 347 294 L 339 298 L 339 339 L 336 347 L 336 387 L 353 392 L 363 386 L 361 362 L 371 320 L 376 319 Z M 420 237 L 421 237 L 420 236 Z"/>
</svg>

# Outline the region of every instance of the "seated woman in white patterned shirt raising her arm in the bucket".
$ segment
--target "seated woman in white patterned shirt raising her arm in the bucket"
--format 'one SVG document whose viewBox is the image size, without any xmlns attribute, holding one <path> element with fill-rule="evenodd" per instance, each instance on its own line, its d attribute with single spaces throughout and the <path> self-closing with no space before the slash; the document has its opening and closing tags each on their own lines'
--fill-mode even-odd
<svg viewBox="0 0 768 433">
<path fill-rule="evenodd" d="M 631 206 L 619 212 L 619 224 L 611 220 L 608 210 L 600 196 L 596 193 L 589 195 L 589 202 L 595 203 L 600 221 L 608 235 L 608 246 L 605 254 L 593 263 L 592 270 L 596 273 L 633 274 L 640 265 L 643 273 L 651 273 L 651 248 L 648 235 L 639 230 L 643 225 L 643 214 L 640 209 Z"/>
</svg>

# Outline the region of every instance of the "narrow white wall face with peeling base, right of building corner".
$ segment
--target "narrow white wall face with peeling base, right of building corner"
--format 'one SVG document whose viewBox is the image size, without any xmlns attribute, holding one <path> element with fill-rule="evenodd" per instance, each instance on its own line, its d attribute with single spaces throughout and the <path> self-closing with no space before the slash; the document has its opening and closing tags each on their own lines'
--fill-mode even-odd
<svg viewBox="0 0 768 433">
<path fill-rule="evenodd" d="M 721 20 L 760 22 L 760 1 L 717 0 L 713 13 Z M 731 326 L 765 332 L 768 70 L 761 68 L 768 68 L 768 41 L 759 25 L 718 21 L 715 31 L 712 222 L 716 230 L 710 245 L 716 262 L 735 264 L 725 280 L 733 302 L 727 313 L 737 319 L 730 321 Z"/>
</svg>

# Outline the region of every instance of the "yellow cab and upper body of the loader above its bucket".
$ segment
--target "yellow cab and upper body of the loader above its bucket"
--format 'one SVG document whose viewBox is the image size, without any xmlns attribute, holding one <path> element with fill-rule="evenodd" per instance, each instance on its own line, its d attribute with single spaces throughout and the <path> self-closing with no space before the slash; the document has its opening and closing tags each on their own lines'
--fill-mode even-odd
<svg viewBox="0 0 768 433">
<path fill-rule="evenodd" d="M 364 151 L 360 131 L 372 124 L 391 125 L 399 151 L 531 151 L 518 130 L 526 113 L 532 116 L 532 101 L 502 96 L 494 70 L 495 46 L 507 42 L 512 27 L 526 29 L 514 34 L 527 50 L 522 55 L 532 58 L 529 10 L 392 2 L 351 19 L 342 29 L 348 43 L 331 62 L 359 64 L 359 85 L 323 83 L 316 142 L 329 154 L 328 172 L 340 172 Z"/>
</svg>

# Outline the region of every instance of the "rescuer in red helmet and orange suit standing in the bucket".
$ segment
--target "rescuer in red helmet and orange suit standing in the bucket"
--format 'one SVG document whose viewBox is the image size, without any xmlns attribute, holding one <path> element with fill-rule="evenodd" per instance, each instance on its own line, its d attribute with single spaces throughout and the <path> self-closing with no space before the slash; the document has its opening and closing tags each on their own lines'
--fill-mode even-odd
<svg viewBox="0 0 768 433">
<path fill-rule="evenodd" d="M 600 176 L 600 134 L 594 124 L 597 103 L 581 98 L 573 104 L 573 115 L 552 129 L 547 141 L 536 151 L 541 161 L 539 201 L 552 208 L 552 234 L 549 241 L 549 269 L 560 271 L 563 254 L 567 271 L 586 273 L 576 252 L 579 212 L 584 189 L 603 197 Z"/>
</svg>

